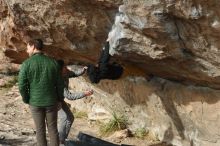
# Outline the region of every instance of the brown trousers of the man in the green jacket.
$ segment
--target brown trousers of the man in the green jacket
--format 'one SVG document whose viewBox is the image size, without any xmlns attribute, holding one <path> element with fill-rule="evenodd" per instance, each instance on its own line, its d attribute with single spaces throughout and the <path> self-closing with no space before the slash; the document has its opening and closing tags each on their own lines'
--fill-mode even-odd
<svg viewBox="0 0 220 146">
<path fill-rule="evenodd" d="M 50 146 L 59 146 L 59 136 L 57 130 L 57 105 L 49 107 L 30 106 L 30 109 L 36 127 L 37 145 L 47 146 L 47 124 L 50 137 Z"/>
</svg>

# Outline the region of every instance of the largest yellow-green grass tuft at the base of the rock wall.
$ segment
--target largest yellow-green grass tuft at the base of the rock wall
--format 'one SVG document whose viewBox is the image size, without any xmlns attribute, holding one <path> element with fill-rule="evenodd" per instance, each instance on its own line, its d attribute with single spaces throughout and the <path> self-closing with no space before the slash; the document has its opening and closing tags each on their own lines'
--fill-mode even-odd
<svg viewBox="0 0 220 146">
<path fill-rule="evenodd" d="M 118 115 L 115 112 L 112 114 L 112 119 L 106 124 L 100 126 L 100 134 L 102 136 L 110 135 L 111 133 L 126 129 L 128 125 L 128 120 L 125 115 Z"/>
</svg>

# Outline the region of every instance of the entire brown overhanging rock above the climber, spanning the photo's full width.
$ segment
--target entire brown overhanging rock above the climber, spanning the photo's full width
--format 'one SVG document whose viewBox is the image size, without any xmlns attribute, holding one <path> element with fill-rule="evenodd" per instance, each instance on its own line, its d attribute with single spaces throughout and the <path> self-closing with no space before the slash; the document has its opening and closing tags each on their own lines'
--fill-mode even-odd
<svg viewBox="0 0 220 146">
<path fill-rule="evenodd" d="M 219 5 L 204 0 L 0 0 L 0 47 L 21 62 L 27 39 L 42 38 L 50 56 L 96 62 L 114 24 L 111 53 L 122 63 L 169 80 L 219 88 Z"/>
</svg>

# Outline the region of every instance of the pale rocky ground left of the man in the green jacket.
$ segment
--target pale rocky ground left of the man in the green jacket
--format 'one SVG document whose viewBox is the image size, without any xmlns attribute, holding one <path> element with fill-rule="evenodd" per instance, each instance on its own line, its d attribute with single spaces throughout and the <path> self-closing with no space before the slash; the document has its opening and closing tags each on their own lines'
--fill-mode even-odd
<svg viewBox="0 0 220 146">
<path fill-rule="evenodd" d="M 34 145 L 34 125 L 16 87 L 0 90 L 0 144 Z"/>
</svg>

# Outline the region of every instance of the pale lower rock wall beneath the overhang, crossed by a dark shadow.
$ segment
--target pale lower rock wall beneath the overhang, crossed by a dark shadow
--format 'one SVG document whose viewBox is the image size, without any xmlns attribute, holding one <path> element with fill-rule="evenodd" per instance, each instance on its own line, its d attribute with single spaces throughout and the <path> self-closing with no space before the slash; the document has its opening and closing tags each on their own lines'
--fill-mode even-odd
<svg viewBox="0 0 220 146">
<path fill-rule="evenodd" d="M 92 97 L 68 101 L 74 108 L 88 114 L 101 107 L 109 113 L 123 113 L 131 123 L 131 131 L 141 128 L 149 131 L 148 141 L 159 139 L 175 146 L 220 145 L 219 90 L 181 85 L 161 78 L 146 81 L 142 77 L 104 80 L 96 86 L 80 77 L 71 79 L 71 87 L 74 91 L 86 88 L 95 91 Z M 103 116 L 111 119 L 108 115 Z"/>
</svg>

